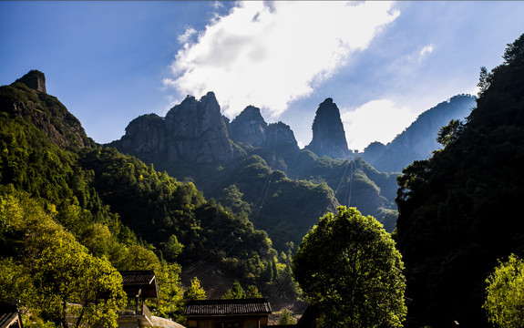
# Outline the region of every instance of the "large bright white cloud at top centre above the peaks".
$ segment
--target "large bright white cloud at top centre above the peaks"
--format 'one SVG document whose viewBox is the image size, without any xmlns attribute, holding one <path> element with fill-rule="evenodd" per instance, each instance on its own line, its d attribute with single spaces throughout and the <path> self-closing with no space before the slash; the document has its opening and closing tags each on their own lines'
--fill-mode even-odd
<svg viewBox="0 0 524 328">
<path fill-rule="evenodd" d="M 214 91 L 230 118 L 247 105 L 277 118 L 398 15 L 386 2 L 241 2 L 180 49 L 164 84 L 180 97 Z"/>
</svg>

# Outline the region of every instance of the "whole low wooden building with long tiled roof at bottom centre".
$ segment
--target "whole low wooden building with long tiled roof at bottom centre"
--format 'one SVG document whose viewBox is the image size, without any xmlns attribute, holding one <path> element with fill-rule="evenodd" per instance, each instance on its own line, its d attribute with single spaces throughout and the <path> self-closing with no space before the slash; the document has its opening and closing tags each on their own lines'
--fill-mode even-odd
<svg viewBox="0 0 524 328">
<path fill-rule="evenodd" d="M 184 309 L 190 328 L 261 328 L 271 313 L 264 298 L 190 301 Z"/>
</svg>

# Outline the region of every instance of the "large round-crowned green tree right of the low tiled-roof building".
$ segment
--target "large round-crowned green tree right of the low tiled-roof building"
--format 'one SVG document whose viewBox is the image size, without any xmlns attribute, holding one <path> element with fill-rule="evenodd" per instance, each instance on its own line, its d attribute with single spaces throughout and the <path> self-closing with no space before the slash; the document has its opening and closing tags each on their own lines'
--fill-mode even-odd
<svg viewBox="0 0 524 328">
<path fill-rule="evenodd" d="M 303 238 L 293 274 L 324 327 L 401 326 L 404 264 L 382 224 L 354 208 L 327 213 Z"/>
</svg>

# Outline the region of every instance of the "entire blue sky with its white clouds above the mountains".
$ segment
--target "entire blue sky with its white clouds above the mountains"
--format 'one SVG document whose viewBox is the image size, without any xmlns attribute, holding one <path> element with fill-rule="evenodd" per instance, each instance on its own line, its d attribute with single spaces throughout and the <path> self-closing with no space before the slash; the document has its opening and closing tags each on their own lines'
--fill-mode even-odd
<svg viewBox="0 0 524 328">
<path fill-rule="evenodd" d="M 44 72 L 98 143 L 213 91 L 227 118 L 261 108 L 303 147 L 331 97 L 362 151 L 477 94 L 523 16 L 522 1 L 0 1 L 0 85 Z"/>
</svg>

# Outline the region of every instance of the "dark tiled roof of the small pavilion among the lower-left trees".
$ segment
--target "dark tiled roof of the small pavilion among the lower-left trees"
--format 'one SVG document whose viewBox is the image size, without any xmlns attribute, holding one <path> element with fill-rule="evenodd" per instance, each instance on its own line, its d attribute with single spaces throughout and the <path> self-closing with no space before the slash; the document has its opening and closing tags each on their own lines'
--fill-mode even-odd
<svg viewBox="0 0 524 328">
<path fill-rule="evenodd" d="M 143 298 L 159 297 L 157 276 L 152 270 L 144 271 L 121 271 L 124 292 L 128 297 L 134 297 L 140 293 Z"/>
</svg>

